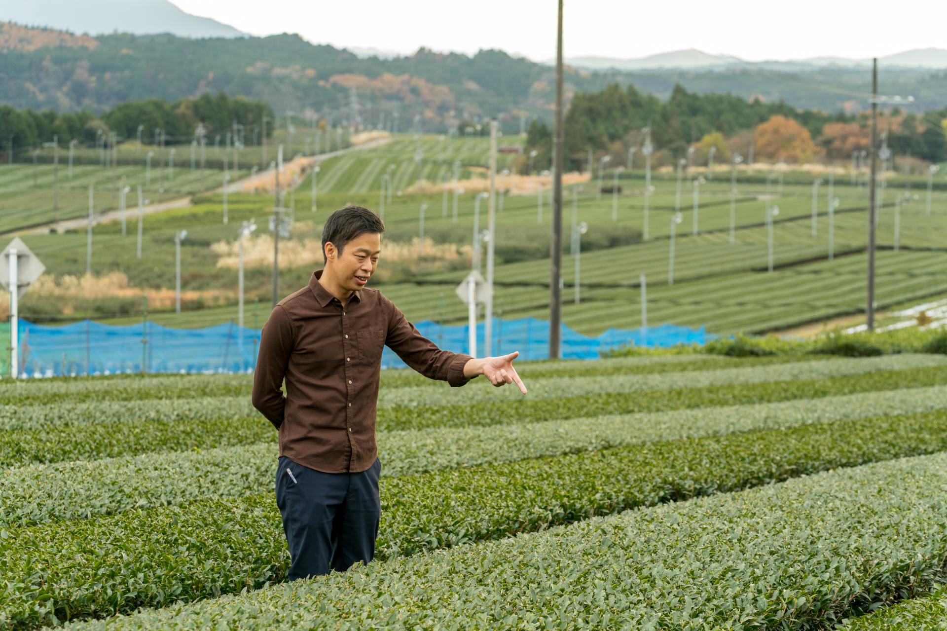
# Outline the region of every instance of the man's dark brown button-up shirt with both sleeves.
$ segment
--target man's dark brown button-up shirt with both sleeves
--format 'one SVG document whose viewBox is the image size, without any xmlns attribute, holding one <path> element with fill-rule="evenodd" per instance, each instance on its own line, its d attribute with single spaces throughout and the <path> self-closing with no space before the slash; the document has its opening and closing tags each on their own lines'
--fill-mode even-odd
<svg viewBox="0 0 947 631">
<path fill-rule="evenodd" d="M 472 355 L 442 351 L 377 289 L 343 305 L 317 282 L 273 308 L 259 340 L 253 406 L 279 430 L 279 455 L 325 473 L 365 471 L 378 457 L 382 347 L 426 377 L 463 386 Z M 282 394 L 286 380 L 286 396 Z"/>
</svg>

